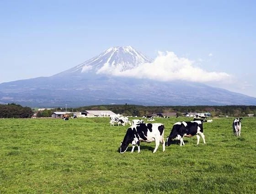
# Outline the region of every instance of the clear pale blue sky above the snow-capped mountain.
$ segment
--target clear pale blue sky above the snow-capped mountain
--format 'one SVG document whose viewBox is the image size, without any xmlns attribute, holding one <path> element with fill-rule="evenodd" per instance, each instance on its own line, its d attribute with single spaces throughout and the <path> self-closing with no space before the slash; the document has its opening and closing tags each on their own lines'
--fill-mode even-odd
<svg viewBox="0 0 256 194">
<path fill-rule="evenodd" d="M 256 97 L 256 1 L 0 0 L 0 83 L 50 76 L 108 47 L 173 52 Z M 194 75 L 192 75 L 194 76 Z"/>
</svg>

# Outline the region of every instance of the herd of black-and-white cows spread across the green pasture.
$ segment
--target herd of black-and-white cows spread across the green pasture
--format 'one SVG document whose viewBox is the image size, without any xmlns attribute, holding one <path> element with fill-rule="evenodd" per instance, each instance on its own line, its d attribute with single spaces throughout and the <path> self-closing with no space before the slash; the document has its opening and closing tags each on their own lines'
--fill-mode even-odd
<svg viewBox="0 0 256 194">
<path fill-rule="evenodd" d="M 240 136 L 241 120 L 242 118 L 236 118 L 233 121 L 233 130 L 235 136 Z M 166 145 L 170 146 L 174 140 L 180 140 L 180 146 L 185 145 L 183 138 L 192 137 L 195 135 L 197 136 L 197 145 L 199 144 L 200 136 L 202 137 L 203 143 L 205 144 L 203 122 L 212 121 L 213 120 L 203 120 L 202 118 L 194 117 L 193 121 L 176 122 L 171 129 L 170 135 L 166 139 Z M 163 146 L 163 152 L 165 151 L 164 124 L 145 123 L 144 120 L 140 119 L 135 119 L 130 122 L 128 117 L 110 117 L 110 125 L 114 125 L 115 122 L 118 123 L 118 126 L 119 123 L 123 126 L 127 125 L 128 123 L 132 125 L 126 131 L 123 142 L 120 144 L 120 153 L 126 152 L 129 144 L 132 144 L 131 152 L 134 151 L 135 146 L 138 147 L 138 152 L 140 152 L 140 142 L 155 142 L 155 149 L 153 153 L 156 152 L 161 143 Z"/>
</svg>

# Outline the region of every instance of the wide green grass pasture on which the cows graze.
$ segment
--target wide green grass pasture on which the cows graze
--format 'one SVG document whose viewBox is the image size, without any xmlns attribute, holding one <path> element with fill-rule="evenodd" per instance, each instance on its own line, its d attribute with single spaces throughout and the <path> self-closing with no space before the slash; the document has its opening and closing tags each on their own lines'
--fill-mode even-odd
<svg viewBox="0 0 256 194">
<path fill-rule="evenodd" d="M 133 118 L 130 118 L 130 121 Z M 120 154 L 128 126 L 110 126 L 109 118 L 0 119 L 0 194 L 255 194 L 256 118 L 244 117 L 241 136 L 234 118 L 204 123 L 206 144 L 184 138 L 152 153 Z M 176 121 L 165 125 L 165 140 Z"/>
</svg>

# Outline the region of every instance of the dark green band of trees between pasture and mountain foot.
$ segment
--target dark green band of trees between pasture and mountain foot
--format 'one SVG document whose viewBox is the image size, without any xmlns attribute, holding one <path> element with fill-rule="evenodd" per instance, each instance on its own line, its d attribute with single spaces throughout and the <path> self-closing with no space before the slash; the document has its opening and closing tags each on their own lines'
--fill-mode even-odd
<svg viewBox="0 0 256 194">
<path fill-rule="evenodd" d="M 211 115 L 229 115 L 229 116 L 247 116 L 248 114 L 256 115 L 256 106 L 250 105 L 226 105 L 226 106 L 142 106 L 142 105 L 91 105 L 78 108 L 67 108 L 69 112 L 85 110 L 111 110 L 116 114 L 125 116 L 144 116 L 156 113 L 176 113 L 182 115 L 187 112 L 209 112 Z M 54 108 L 52 110 L 36 111 L 30 107 L 22 107 L 15 103 L 0 105 L 0 118 L 31 118 L 34 113 L 37 117 L 51 117 L 54 111 L 65 111 L 65 108 Z"/>
</svg>

